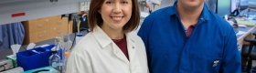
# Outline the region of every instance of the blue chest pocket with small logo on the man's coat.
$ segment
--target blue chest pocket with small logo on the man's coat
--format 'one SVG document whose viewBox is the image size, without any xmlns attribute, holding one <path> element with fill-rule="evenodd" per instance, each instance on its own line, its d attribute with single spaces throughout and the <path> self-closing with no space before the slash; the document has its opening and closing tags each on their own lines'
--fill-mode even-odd
<svg viewBox="0 0 256 73">
<path fill-rule="evenodd" d="M 219 73 L 222 57 L 197 57 L 196 73 Z"/>
</svg>

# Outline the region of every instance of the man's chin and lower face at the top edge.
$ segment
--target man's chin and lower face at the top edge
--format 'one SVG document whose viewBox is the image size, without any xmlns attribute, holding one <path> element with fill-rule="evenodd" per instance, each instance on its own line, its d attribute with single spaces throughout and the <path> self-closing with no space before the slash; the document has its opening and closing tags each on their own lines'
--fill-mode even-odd
<svg viewBox="0 0 256 73">
<path fill-rule="evenodd" d="M 183 5 L 187 8 L 197 8 L 203 5 L 205 0 L 178 0 L 178 5 Z"/>
</svg>

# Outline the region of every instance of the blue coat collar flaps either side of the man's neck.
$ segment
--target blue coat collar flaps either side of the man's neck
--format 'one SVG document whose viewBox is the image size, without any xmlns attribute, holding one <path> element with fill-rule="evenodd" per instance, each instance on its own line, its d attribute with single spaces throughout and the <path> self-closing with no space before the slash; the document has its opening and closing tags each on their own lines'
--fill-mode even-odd
<svg viewBox="0 0 256 73">
<path fill-rule="evenodd" d="M 177 1 L 174 3 L 174 5 L 170 8 L 169 10 L 169 14 L 170 16 L 178 16 L 178 13 L 177 13 L 177 9 L 176 9 L 176 4 L 177 4 Z M 206 3 L 204 3 L 204 8 L 203 8 L 203 11 L 202 11 L 202 14 L 200 16 L 200 19 L 201 20 L 209 20 L 209 10 L 208 10 L 208 5 Z"/>
</svg>

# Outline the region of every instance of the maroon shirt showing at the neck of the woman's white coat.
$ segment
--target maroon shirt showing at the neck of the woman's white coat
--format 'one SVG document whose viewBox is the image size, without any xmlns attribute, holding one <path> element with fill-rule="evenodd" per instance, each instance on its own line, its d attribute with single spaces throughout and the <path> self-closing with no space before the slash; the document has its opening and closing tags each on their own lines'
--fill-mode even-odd
<svg viewBox="0 0 256 73">
<path fill-rule="evenodd" d="M 129 60 L 126 36 L 124 36 L 123 39 L 112 39 L 112 41 L 123 51 L 123 54 Z"/>
</svg>

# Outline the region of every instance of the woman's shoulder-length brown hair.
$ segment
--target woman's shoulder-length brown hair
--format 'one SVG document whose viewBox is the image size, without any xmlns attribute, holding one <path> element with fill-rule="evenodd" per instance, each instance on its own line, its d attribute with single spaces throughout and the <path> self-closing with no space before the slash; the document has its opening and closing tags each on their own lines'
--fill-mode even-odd
<svg viewBox="0 0 256 73">
<path fill-rule="evenodd" d="M 88 15 L 88 25 L 91 28 L 91 32 L 95 26 L 101 26 L 103 24 L 103 20 L 101 14 L 98 10 L 101 9 L 101 5 L 103 5 L 104 0 L 91 0 L 90 11 Z M 128 33 L 133 31 L 139 26 L 140 23 L 140 10 L 137 0 L 132 0 L 133 11 L 130 20 L 123 26 L 123 33 Z"/>
</svg>

